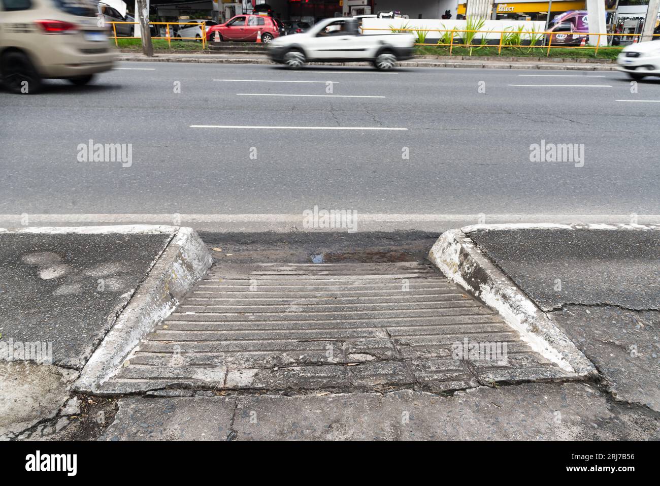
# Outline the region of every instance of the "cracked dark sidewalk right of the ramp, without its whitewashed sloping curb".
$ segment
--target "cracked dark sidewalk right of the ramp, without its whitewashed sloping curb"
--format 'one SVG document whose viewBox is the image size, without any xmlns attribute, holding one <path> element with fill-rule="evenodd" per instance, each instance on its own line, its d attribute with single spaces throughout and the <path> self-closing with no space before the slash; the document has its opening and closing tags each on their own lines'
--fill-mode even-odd
<svg viewBox="0 0 660 486">
<path fill-rule="evenodd" d="M 476 229 L 469 238 L 568 335 L 612 396 L 660 411 L 657 226 Z"/>
</svg>

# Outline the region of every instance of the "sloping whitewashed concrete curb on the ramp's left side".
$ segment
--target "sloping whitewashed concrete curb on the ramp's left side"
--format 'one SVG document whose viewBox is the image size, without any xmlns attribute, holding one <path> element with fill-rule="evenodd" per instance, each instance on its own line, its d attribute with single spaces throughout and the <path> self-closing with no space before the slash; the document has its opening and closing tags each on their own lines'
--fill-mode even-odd
<svg viewBox="0 0 660 486">
<path fill-rule="evenodd" d="M 179 300 L 211 267 L 211 253 L 195 230 L 174 226 L 153 229 L 162 228 L 174 230 L 172 239 L 82 368 L 73 385 L 75 390 L 100 393 L 100 386 L 119 369 L 140 340 L 172 313 Z M 144 229 L 143 226 L 141 230 Z"/>
</svg>

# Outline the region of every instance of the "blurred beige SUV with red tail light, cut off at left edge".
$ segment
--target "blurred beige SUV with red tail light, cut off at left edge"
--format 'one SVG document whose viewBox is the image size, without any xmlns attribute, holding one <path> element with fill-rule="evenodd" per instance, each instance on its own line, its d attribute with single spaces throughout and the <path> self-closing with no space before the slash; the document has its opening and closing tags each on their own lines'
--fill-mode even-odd
<svg viewBox="0 0 660 486">
<path fill-rule="evenodd" d="M 34 93 L 42 79 L 84 85 L 112 69 L 108 30 L 89 0 L 0 0 L 0 79 Z"/>
</svg>

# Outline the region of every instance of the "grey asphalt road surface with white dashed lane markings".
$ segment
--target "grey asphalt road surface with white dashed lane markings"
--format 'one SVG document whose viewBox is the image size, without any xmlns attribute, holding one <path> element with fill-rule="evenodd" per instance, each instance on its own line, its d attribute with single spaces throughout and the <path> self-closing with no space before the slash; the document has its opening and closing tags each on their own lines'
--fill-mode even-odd
<svg viewBox="0 0 660 486">
<path fill-rule="evenodd" d="M 0 92 L 0 215 L 660 213 L 660 79 L 635 93 L 603 71 L 117 68 Z M 79 162 L 90 140 L 131 144 L 130 166 Z M 583 144 L 583 166 L 531 162 L 542 141 Z"/>
</svg>

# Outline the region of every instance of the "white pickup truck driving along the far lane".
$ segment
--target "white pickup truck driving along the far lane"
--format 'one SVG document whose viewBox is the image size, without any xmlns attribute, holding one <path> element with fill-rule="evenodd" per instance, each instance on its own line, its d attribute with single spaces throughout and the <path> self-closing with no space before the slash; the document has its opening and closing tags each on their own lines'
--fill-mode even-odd
<svg viewBox="0 0 660 486">
<path fill-rule="evenodd" d="M 268 44 L 273 61 L 298 69 L 308 61 L 364 62 L 392 69 L 413 57 L 412 34 L 360 34 L 356 18 L 326 18 L 300 34 L 282 36 Z"/>
</svg>

